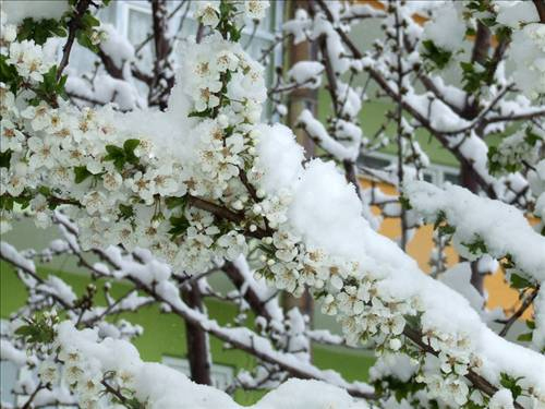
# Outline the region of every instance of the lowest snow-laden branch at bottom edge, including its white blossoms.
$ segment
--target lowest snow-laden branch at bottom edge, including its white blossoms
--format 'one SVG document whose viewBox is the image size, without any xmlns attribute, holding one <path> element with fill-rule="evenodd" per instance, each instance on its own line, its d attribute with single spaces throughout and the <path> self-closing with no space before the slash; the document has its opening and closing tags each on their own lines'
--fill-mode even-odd
<svg viewBox="0 0 545 409">
<path fill-rule="evenodd" d="M 99 340 L 95 330 L 77 330 L 68 322 L 58 327 L 61 368 L 51 368 L 71 384 L 78 382 L 90 390 L 82 397 L 94 398 L 101 386 L 100 400 L 116 398 L 129 402 L 132 398 L 162 409 L 242 409 L 226 393 L 191 382 L 182 373 L 159 363 L 143 362 L 136 349 L 123 340 Z M 85 370 L 92 368 L 92 371 Z M 82 388 L 83 389 L 83 388 Z M 83 390 L 82 390 L 83 392 Z M 82 399 L 82 400 L 84 400 Z M 347 409 L 366 409 L 346 390 L 317 381 L 291 380 L 268 393 L 253 408 L 318 409 L 324 405 L 342 405 Z"/>
</svg>

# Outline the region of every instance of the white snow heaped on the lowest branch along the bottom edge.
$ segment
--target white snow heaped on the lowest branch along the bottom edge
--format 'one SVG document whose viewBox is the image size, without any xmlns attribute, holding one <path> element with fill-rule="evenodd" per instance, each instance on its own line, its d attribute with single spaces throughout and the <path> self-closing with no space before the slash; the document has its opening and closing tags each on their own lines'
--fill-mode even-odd
<svg viewBox="0 0 545 409">
<path fill-rule="evenodd" d="M 70 322 L 58 328 L 61 349 L 81 353 L 94 371 L 124 373 L 135 397 L 150 408 L 243 409 L 222 390 L 190 381 L 184 374 L 159 363 L 143 362 L 128 341 L 99 340 L 96 329 L 77 330 Z M 318 381 L 290 380 L 247 409 L 366 409 L 363 400 L 346 390 Z"/>
</svg>

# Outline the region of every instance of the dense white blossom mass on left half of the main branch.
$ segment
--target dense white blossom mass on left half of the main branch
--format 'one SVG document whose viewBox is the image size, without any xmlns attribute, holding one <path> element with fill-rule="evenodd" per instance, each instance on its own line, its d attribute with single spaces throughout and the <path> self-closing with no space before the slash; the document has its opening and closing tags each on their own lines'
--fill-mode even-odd
<svg viewBox="0 0 545 409">
<path fill-rule="evenodd" d="M 10 50 L 17 47 L 12 43 Z M 173 92 L 193 98 L 196 112 L 216 110 L 214 119 L 191 129 L 198 137 L 190 155 L 177 156 L 149 135 L 124 129 L 111 107 L 33 106 L 25 93 L 3 87 L 1 145 L 8 164 L 0 170 L 0 194 L 28 206 L 40 227 L 47 226 L 52 204 L 76 204 L 70 215 L 84 250 L 149 248 L 189 273 L 210 268 L 214 260 L 234 260 L 247 246 L 241 234 L 245 226 L 218 226 L 210 213 L 187 201 L 220 202 L 234 213 L 250 200 L 240 172 L 265 99 L 263 69 L 240 46 L 216 36 L 190 44 L 186 51 L 183 88 Z M 2 212 L 4 230 L 11 215 Z"/>
</svg>

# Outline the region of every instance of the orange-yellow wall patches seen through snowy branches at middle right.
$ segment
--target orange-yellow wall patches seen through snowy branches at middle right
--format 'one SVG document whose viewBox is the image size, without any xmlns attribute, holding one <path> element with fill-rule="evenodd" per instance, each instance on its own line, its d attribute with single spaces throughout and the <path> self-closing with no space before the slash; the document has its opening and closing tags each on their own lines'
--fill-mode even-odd
<svg viewBox="0 0 545 409">
<path fill-rule="evenodd" d="M 362 179 L 361 184 L 363 188 L 371 188 L 371 182 L 368 180 Z M 397 195 L 396 188 L 390 184 L 376 182 L 375 187 L 380 189 L 380 191 L 385 194 Z M 377 206 L 373 206 L 373 213 L 378 215 L 380 214 L 380 209 Z M 384 218 L 378 231 L 390 239 L 396 239 L 400 236 L 401 220 L 399 218 Z M 413 238 L 407 246 L 407 252 L 414 260 L 416 260 L 423 272 L 429 273 L 431 266 L 428 265 L 428 261 L 433 248 L 433 226 L 424 225 L 415 231 Z M 448 266 L 452 266 L 458 263 L 458 253 L 451 245 L 446 249 L 445 254 L 447 256 Z M 484 286 L 488 296 L 486 301 L 486 306 L 488 309 L 492 310 L 500 306 L 506 313 L 512 313 L 520 304 L 519 292 L 513 290 L 506 282 L 501 268 L 498 268 L 498 272 L 493 275 L 487 275 L 484 280 Z M 528 310 L 522 316 L 524 320 L 529 320 L 531 317 L 531 310 Z"/>
</svg>

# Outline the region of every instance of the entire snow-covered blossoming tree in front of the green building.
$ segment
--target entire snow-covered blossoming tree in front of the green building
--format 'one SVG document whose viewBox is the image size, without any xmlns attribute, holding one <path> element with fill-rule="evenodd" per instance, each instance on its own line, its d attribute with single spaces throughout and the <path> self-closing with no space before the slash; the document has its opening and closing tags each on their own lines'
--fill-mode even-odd
<svg viewBox="0 0 545 409">
<path fill-rule="evenodd" d="M 255 356 L 257 369 L 239 374 L 233 387 L 272 388 L 256 409 L 545 408 L 540 1 L 429 2 L 419 10 L 427 15 L 423 26 L 411 2 L 382 10 L 310 1 L 284 22 L 278 44 L 313 43 L 320 60 L 295 62 L 286 75 L 277 70 L 269 89 L 265 68 L 241 40 L 268 1 L 199 1 L 198 31 L 181 41 L 169 19 L 183 3 L 169 14 L 167 2 L 152 2 L 150 73 L 138 67 L 137 48 L 97 19 L 108 3 L 2 2 L 0 228 L 7 232 L 24 214 L 62 233 L 43 251 L 0 246 L 28 289 L 1 348 L 2 360 L 38 369 L 20 385 L 29 396 L 24 408 L 240 408 L 225 392 L 140 359 L 131 338 L 141 328 L 113 315 L 150 303 L 203 339 L 210 334 Z M 360 50 L 350 31 L 366 19 L 380 21 L 384 38 Z M 492 36 L 498 44 L 480 55 L 480 41 Z M 76 43 L 100 60 L 90 79 L 70 70 Z M 448 70 L 458 76 L 452 84 Z M 362 189 L 356 178 L 360 156 L 388 142 L 361 130 L 371 96 L 352 83 L 356 75 L 395 106 L 388 119 L 397 166 L 361 170 L 397 187 L 395 197 Z M 327 123 L 311 109 L 295 121 L 326 154 L 318 158 L 293 130 L 267 123 L 264 105 L 282 116 L 286 95 L 323 82 L 332 107 Z M 420 128 L 463 165 L 469 190 L 422 181 L 429 159 L 413 137 Z M 509 135 L 488 148 L 484 139 L 497 132 Z M 399 243 L 376 231 L 372 205 L 400 217 Z M 485 256 L 501 261 L 524 310 L 534 309 L 524 345 L 505 338 L 518 316 L 499 318 L 505 327 L 496 334 L 485 311 L 404 252 L 425 220 L 435 224 L 438 243 L 452 240 L 464 258 L 455 268 Z M 43 279 L 35 261 L 60 254 L 76 257 L 89 277 L 123 280 L 132 290 L 116 299 L 106 289 L 108 305 L 100 306 L 93 285 L 78 297 L 55 275 Z M 221 326 L 184 296 L 214 296 L 205 276 L 218 268 L 258 316 L 255 330 Z M 308 290 L 342 337 L 306 328 L 298 310 L 280 309 L 277 290 Z M 318 338 L 371 345 L 379 356 L 373 385 L 316 368 L 310 342 Z"/>
</svg>

